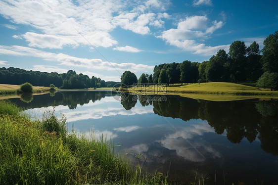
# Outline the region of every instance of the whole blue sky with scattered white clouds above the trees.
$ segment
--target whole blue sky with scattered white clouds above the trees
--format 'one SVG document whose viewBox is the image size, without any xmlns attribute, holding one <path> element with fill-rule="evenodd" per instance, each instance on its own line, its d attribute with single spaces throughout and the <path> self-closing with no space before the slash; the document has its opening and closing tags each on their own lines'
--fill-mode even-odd
<svg viewBox="0 0 278 185">
<path fill-rule="evenodd" d="M 105 81 L 203 62 L 278 30 L 278 0 L 0 0 L 0 67 Z"/>
</svg>

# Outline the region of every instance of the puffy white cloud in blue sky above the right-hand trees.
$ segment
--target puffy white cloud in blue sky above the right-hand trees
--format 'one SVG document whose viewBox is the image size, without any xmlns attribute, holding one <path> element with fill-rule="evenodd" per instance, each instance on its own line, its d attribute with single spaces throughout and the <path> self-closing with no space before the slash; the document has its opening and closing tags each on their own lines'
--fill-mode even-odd
<svg viewBox="0 0 278 185">
<path fill-rule="evenodd" d="M 207 39 L 217 29 L 222 28 L 224 22 L 213 21 L 209 26 L 207 16 L 190 16 L 181 21 L 177 29 L 169 29 L 162 32 L 162 35 L 157 38 L 163 39 L 170 45 L 183 48 L 185 51 L 190 51 L 194 54 L 213 55 L 219 49 L 228 50 L 230 45 L 222 46 L 206 46 L 198 43 L 197 40 Z"/>
</svg>

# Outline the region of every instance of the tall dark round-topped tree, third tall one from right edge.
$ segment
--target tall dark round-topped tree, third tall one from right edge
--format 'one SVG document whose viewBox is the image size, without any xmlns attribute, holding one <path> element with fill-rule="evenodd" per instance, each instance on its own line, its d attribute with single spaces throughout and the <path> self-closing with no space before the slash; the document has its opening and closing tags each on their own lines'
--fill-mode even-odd
<svg viewBox="0 0 278 185">
<path fill-rule="evenodd" d="M 244 42 L 234 41 L 229 50 L 231 79 L 235 82 L 245 81 L 246 46 Z"/>
</svg>

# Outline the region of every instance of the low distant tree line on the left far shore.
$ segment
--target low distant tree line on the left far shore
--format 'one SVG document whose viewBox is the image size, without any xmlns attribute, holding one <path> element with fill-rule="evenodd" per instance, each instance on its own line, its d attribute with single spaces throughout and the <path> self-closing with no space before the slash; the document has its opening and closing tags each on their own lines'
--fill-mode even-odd
<svg viewBox="0 0 278 185">
<path fill-rule="evenodd" d="M 82 73 L 77 74 L 73 70 L 58 74 L 56 72 L 27 71 L 14 67 L 0 68 L 0 84 L 20 85 L 25 82 L 29 82 L 33 86 L 45 87 L 53 84 L 55 87 L 61 89 L 113 87 L 116 84 L 116 82 L 105 82 L 94 76 L 90 78 L 88 75 Z"/>
</svg>

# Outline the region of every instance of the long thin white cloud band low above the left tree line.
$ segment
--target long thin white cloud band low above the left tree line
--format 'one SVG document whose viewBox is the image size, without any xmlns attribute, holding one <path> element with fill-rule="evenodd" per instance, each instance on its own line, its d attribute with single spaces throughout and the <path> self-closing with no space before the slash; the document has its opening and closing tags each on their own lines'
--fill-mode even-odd
<svg viewBox="0 0 278 185">
<path fill-rule="evenodd" d="M 133 72 L 152 71 L 154 66 L 135 63 L 115 63 L 102 61 L 101 59 L 93 58 L 79 58 L 63 53 L 46 52 L 39 49 L 34 49 L 24 46 L 0 46 L 0 54 L 14 55 L 14 56 L 33 56 L 39 57 L 47 61 L 58 61 L 59 64 L 69 67 L 85 67 L 86 69 L 94 70 L 130 70 Z"/>
</svg>

